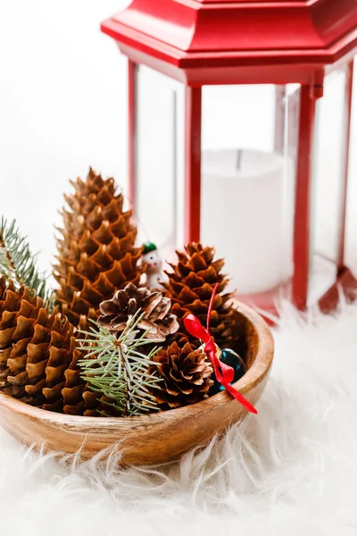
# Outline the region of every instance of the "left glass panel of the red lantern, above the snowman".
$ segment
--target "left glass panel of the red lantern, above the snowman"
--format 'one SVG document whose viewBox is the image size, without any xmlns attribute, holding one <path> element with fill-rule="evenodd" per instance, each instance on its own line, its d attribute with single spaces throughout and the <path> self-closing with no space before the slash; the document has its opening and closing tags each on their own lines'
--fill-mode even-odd
<svg viewBox="0 0 357 536">
<path fill-rule="evenodd" d="M 183 242 L 184 97 L 182 84 L 139 66 L 134 188 L 139 239 L 154 241 L 166 259 Z"/>
</svg>

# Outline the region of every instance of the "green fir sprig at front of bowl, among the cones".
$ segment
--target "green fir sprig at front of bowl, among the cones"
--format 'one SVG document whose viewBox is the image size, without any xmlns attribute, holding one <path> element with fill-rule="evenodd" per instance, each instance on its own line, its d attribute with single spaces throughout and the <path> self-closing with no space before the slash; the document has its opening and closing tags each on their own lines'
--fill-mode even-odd
<svg viewBox="0 0 357 536">
<path fill-rule="evenodd" d="M 153 343 L 160 341 L 146 339 L 148 331 L 137 330 L 144 316 L 139 309 L 118 339 L 95 321 L 91 321 L 94 327 L 89 331 L 79 331 L 85 336 L 78 339 L 79 348 L 88 352 L 79 360 L 81 377 L 89 389 L 109 398 L 111 402 L 105 405 L 112 406 L 122 416 L 159 410 L 152 393 L 162 380 L 149 374 L 148 368 L 154 364 L 152 358 L 159 349 L 153 348 Z"/>
</svg>

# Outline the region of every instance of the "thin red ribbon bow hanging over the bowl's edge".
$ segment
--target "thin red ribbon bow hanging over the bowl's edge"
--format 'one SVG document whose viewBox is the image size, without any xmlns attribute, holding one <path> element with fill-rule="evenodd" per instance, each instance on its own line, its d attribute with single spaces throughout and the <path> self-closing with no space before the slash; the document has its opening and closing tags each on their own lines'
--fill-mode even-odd
<svg viewBox="0 0 357 536">
<path fill-rule="evenodd" d="M 188 333 L 190 333 L 197 339 L 201 339 L 203 341 L 204 351 L 212 363 L 213 371 L 216 375 L 217 381 L 219 381 L 220 384 L 224 387 L 224 389 L 228 390 L 228 393 L 230 393 L 232 397 L 236 398 L 236 400 L 243 407 L 245 407 L 247 411 L 250 411 L 253 414 L 257 414 L 258 412 L 255 407 L 252 406 L 252 404 L 248 402 L 248 400 L 243 395 L 241 395 L 237 391 L 237 389 L 234 389 L 234 387 L 230 385 L 231 381 L 233 381 L 234 378 L 234 369 L 228 364 L 222 363 L 217 357 L 217 348 L 210 334 L 210 320 L 213 309 L 214 297 L 217 293 L 217 287 L 218 283 L 216 283 L 212 292 L 210 306 L 207 314 L 207 328 L 203 328 L 202 323 L 198 320 L 195 314 L 187 314 L 187 317 L 184 319 L 185 327 Z"/>
</svg>

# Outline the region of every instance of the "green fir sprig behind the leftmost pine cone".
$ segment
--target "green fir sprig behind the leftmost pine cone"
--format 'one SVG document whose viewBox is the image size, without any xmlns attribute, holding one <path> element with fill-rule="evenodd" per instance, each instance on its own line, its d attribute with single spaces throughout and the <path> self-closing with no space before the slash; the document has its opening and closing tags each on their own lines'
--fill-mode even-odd
<svg viewBox="0 0 357 536">
<path fill-rule="evenodd" d="M 16 221 L 0 223 L 0 275 L 11 279 L 19 287 L 26 285 L 52 307 L 51 292 L 46 286 L 46 275 L 37 270 L 36 255 L 31 253 L 26 237 L 22 237 Z"/>
</svg>

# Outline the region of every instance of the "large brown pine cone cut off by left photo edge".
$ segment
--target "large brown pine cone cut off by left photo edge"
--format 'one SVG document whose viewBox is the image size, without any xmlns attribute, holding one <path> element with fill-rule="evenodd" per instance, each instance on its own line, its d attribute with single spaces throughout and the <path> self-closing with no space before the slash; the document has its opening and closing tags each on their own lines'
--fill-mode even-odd
<svg viewBox="0 0 357 536">
<path fill-rule="evenodd" d="M 0 278 L 0 389 L 33 406 L 63 411 L 66 369 L 80 356 L 74 328 L 49 314 L 28 287 Z M 83 381 L 78 381 L 83 384 Z M 83 389 L 80 385 L 78 389 Z"/>
</svg>

